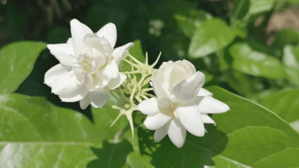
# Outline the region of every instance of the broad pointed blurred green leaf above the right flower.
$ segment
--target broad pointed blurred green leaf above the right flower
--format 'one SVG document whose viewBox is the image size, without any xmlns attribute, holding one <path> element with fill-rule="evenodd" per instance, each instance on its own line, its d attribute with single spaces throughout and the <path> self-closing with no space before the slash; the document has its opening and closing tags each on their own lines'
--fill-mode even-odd
<svg viewBox="0 0 299 168">
<path fill-rule="evenodd" d="M 197 28 L 191 39 L 189 54 L 192 58 L 212 54 L 228 46 L 236 34 L 220 19 L 210 19 Z"/>
</svg>

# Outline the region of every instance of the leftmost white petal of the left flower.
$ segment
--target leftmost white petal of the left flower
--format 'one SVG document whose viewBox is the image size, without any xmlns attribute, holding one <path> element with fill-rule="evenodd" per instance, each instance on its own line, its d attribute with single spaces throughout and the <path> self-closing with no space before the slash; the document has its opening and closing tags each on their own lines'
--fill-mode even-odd
<svg viewBox="0 0 299 168">
<path fill-rule="evenodd" d="M 67 71 L 65 67 L 61 64 L 57 64 L 45 73 L 45 84 L 51 87 L 55 80 L 67 75 L 68 73 L 69 71 Z"/>
</svg>

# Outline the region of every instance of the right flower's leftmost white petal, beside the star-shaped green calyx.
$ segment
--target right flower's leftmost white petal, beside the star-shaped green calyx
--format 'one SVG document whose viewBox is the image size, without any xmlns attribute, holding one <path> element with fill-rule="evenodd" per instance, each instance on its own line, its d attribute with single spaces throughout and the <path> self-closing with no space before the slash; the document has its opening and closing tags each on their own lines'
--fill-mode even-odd
<svg viewBox="0 0 299 168">
<path fill-rule="evenodd" d="M 150 99 L 143 100 L 138 104 L 138 110 L 143 114 L 155 115 L 159 113 L 157 97 L 152 97 Z"/>
</svg>

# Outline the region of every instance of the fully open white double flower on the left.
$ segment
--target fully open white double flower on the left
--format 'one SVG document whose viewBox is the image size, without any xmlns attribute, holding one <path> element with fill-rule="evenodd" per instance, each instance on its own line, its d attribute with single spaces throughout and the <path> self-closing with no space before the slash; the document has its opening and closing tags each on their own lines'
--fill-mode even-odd
<svg viewBox="0 0 299 168">
<path fill-rule="evenodd" d="M 47 45 L 60 64 L 46 72 L 45 84 L 64 102 L 80 101 L 82 109 L 89 104 L 102 107 L 107 102 L 109 90 L 126 80 L 126 75 L 119 73 L 118 65 L 134 44 L 130 42 L 114 48 L 117 33 L 113 23 L 94 33 L 73 19 L 71 36 L 66 43 Z"/>
</svg>

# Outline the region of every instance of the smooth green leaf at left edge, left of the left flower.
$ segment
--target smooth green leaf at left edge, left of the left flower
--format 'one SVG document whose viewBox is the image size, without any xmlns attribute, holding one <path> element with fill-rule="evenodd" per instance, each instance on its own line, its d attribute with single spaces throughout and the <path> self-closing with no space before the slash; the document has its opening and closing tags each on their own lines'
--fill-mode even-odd
<svg viewBox="0 0 299 168">
<path fill-rule="evenodd" d="M 0 50 L 0 94 L 13 93 L 32 71 L 34 62 L 46 48 L 44 42 L 14 42 Z"/>
</svg>

